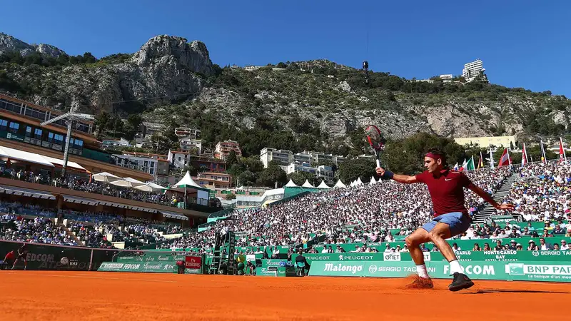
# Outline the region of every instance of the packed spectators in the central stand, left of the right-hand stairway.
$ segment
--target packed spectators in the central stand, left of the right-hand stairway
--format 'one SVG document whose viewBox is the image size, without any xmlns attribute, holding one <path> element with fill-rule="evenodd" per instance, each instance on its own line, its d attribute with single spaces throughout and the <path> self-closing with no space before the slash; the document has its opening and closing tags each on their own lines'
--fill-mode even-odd
<svg viewBox="0 0 571 321">
<path fill-rule="evenodd" d="M 468 173 L 474 183 L 495 193 L 511 168 L 489 168 Z M 485 205 L 479 196 L 466 193 L 466 206 L 474 215 Z M 175 240 L 171 248 L 211 248 L 215 230 L 228 228 L 240 235 L 237 246 L 276 246 L 307 243 L 325 235 L 325 243 L 390 242 L 408 235 L 433 216 L 432 202 L 424 184 L 377 184 L 335 188 L 311 193 L 271 208 L 234 212 L 203 233 Z M 398 230 L 393 235 L 390 230 Z"/>
</svg>

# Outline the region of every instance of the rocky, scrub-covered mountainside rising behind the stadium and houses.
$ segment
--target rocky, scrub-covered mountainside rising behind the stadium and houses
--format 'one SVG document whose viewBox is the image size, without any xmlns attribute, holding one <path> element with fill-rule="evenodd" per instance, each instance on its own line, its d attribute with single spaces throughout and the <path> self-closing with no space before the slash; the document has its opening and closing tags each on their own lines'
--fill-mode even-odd
<svg viewBox="0 0 571 321">
<path fill-rule="evenodd" d="M 8 38 L 0 48 L 29 49 Z M 0 56 L 0 90 L 61 109 L 196 126 L 206 143 L 237 139 L 246 154 L 264 146 L 347 154 L 370 123 L 388 138 L 555 136 L 567 133 L 571 110 L 564 96 L 483 82 L 371 72 L 366 83 L 362 70 L 325 60 L 220 68 L 205 44 L 178 36 L 153 37 L 135 54 L 86 55 L 37 63 Z"/>
</svg>

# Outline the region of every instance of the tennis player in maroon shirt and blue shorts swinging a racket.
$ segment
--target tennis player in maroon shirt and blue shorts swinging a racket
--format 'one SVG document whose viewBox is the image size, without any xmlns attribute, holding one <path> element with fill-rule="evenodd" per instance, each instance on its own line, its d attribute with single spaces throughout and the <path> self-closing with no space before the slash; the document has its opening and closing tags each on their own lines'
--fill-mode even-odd
<svg viewBox="0 0 571 321">
<path fill-rule="evenodd" d="M 432 242 L 450 263 L 450 272 L 453 273 L 453 282 L 448 285 L 450 291 L 468 289 L 474 285 L 468 276 L 463 273 L 458 258 L 446 239 L 464 233 L 472 219 L 464 205 L 464 189 L 469 188 L 481 198 L 499 210 L 513 210 L 512 204 L 498 204 L 482 188 L 474 185 L 470 178 L 462 172 L 450 170 L 446 165 L 445 154 L 439 149 L 431 149 L 424 158 L 423 173 L 414 176 L 398 175 L 383 168 L 377 168 L 378 175 L 383 179 L 396 180 L 399 183 L 425 183 L 433 201 L 434 218 L 418 228 L 405 239 L 410 256 L 416 264 L 418 277 L 409 287 L 432 288 L 433 282 L 428 276 L 424 256 L 420 244 Z"/>
</svg>

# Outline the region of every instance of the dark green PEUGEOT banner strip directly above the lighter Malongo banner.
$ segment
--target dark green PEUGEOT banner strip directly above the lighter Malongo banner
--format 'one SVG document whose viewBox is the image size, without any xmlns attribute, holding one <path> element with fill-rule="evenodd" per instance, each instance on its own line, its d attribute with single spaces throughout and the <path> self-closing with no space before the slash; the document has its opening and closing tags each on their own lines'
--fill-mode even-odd
<svg viewBox="0 0 571 321">
<path fill-rule="evenodd" d="M 425 261 L 446 261 L 439 252 L 423 252 Z M 412 261 L 410 253 L 319 253 L 304 254 L 309 263 L 315 261 Z M 560 261 L 571 263 L 571 251 L 458 251 L 460 261 Z M 295 258 L 294 258 L 295 259 Z"/>
</svg>

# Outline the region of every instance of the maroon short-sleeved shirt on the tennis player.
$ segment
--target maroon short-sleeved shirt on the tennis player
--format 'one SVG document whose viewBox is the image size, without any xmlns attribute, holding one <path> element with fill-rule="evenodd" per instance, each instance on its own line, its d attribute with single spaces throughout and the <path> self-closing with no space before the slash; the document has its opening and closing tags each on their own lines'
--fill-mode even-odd
<svg viewBox="0 0 571 321">
<path fill-rule="evenodd" d="M 433 200 L 434 217 L 446 213 L 461 212 L 468 215 L 464 205 L 464 188 L 472 182 L 468 176 L 456 170 L 441 170 L 438 178 L 425 170 L 416 175 L 416 180 L 425 183 Z"/>
</svg>

